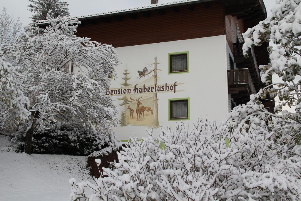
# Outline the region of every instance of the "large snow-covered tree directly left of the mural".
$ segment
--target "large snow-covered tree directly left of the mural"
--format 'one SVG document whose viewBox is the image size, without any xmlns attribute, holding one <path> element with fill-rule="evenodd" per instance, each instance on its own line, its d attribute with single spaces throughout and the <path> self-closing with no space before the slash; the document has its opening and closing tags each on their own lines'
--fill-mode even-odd
<svg viewBox="0 0 301 201">
<path fill-rule="evenodd" d="M 110 133 L 116 110 L 105 90 L 117 64 L 116 52 L 110 45 L 75 36 L 78 20 L 48 14 L 48 23 L 39 35 L 29 27 L 26 41 L 12 50 L 26 75 L 24 90 L 30 107 L 39 111 L 39 124 L 62 121 Z M 79 73 L 69 73 L 71 63 Z"/>
</svg>

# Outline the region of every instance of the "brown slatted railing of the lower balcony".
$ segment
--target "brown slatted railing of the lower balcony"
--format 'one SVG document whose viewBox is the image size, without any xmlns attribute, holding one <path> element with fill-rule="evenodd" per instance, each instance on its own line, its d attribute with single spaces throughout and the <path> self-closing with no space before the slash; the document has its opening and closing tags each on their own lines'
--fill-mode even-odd
<svg viewBox="0 0 301 201">
<path fill-rule="evenodd" d="M 248 68 L 228 70 L 228 85 L 232 84 L 249 84 L 251 93 L 256 93 Z"/>
</svg>

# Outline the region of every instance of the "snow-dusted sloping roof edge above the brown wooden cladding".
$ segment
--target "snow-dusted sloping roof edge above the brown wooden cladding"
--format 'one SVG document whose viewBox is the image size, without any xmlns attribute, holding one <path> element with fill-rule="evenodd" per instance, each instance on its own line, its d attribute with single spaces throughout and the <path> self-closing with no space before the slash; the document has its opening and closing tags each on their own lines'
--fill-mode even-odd
<svg viewBox="0 0 301 201">
<path fill-rule="evenodd" d="M 173 7 L 178 6 L 182 4 L 189 4 L 189 3 L 196 3 L 196 2 L 209 2 L 212 0 L 179 0 L 175 2 L 166 2 L 166 3 L 160 3 L 160 4 L 152 4 L 152 5 L 146 5 L 146 6 L 140 6 L 136 8 L 126 8 L 122 10 L 117 11 L 109 11 L 109 12 L 103 12 L 103 13 L 95 13 L 95 14 L 88 14 L 88 15 L 79 15 L 79 16 L 70 16 L 70 17 L 64 17 L 63 19 L 91 19 L 91 18 L 98 18 L 98 17 L 105 17 L 105 16 L 112 16 L 112 15 L 118 15 L 118 14 L 126 14 L 131 12 L 140 12 L 140 11 L 147 11 L 147 10 L 153 10 L 158 8 L 164 8 L 164 7 Z M 43 26 L 48 24 L 47 20 L 40 20 L 37 21 L 37 26 Z"/>
</svg>

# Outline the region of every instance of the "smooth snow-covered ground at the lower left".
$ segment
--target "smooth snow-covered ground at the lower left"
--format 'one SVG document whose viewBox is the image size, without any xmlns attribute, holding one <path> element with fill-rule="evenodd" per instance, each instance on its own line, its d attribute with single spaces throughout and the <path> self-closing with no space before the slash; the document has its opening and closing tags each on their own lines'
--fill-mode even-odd
<svg viewBox="0 0 301 201">
<path fill-rule="evenodd" d="M 86 156 L 1 152 L 4 147 L 7 139 L 2 136 L 0 200 L 70 200 L 70 178 L 92 180 L 86 169 Z"/>
</svg>

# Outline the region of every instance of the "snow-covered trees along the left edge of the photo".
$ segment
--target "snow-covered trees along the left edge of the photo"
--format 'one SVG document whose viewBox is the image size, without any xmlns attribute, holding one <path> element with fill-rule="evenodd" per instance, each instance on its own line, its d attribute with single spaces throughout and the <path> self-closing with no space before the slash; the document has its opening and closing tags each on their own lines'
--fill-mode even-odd
<svg viewBox="0 0 301 201">
<path fill-rule="evenodd" d="M 20 66 L 14 66 L 10 45 L 21 34 L 20 18 L 14 20 L 3 8 L 0 14 L 0 127 L 4 129 L 17 127 L 28 119 L 28 98 L 23 94 L 23 74 Z"/>
</svg>

